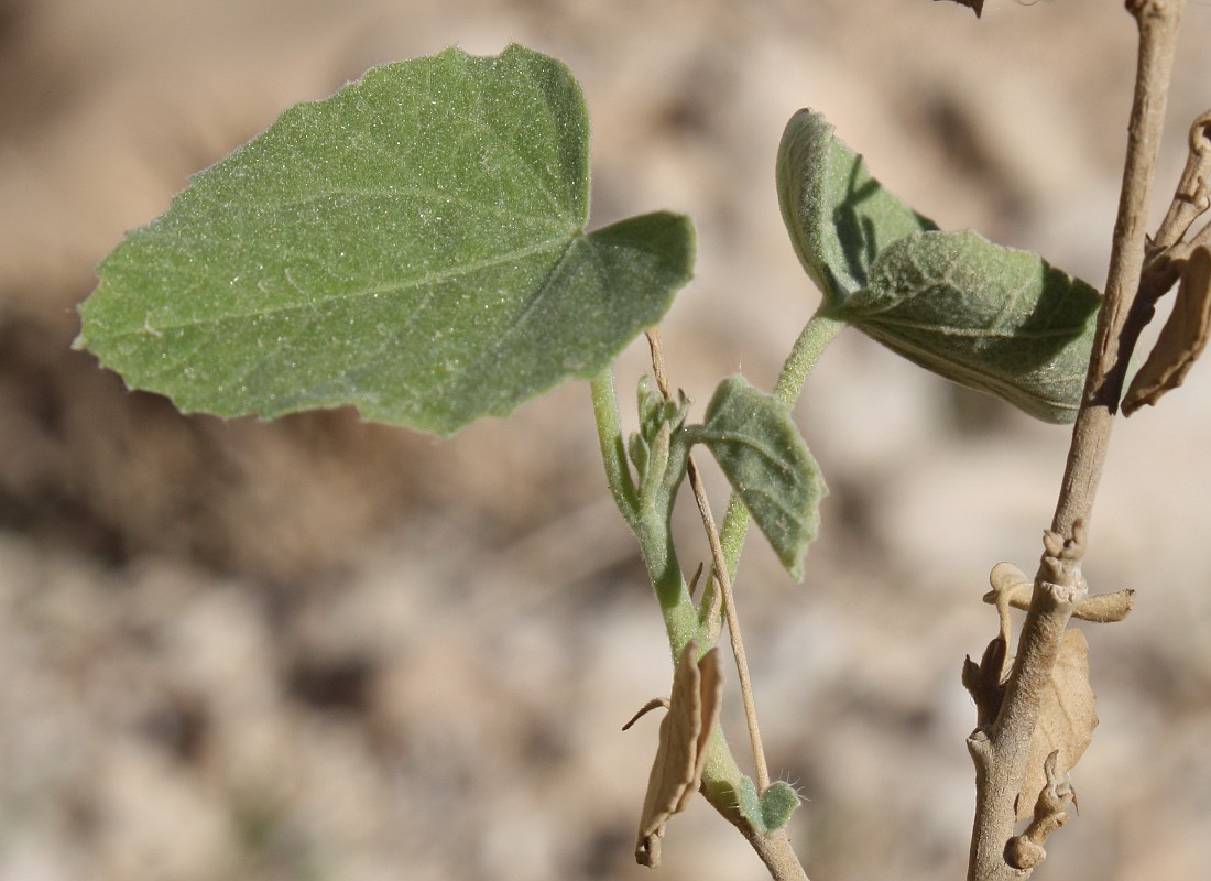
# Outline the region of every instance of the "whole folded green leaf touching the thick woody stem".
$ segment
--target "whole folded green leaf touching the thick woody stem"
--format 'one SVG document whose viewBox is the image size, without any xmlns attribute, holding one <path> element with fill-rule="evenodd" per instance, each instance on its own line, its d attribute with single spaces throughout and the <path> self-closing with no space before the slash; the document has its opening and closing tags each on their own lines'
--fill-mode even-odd
<svg viewBox="0 0 1211 881">
<path fill-rule="evenodd" d="M 1100 294 L 1041 257 L 942 233 L 871 177 L 823 116 L 800 110 L 779 200 L 823 311 L 908 360 L 1045 422 L 1072 422 Z"/>
</svg>

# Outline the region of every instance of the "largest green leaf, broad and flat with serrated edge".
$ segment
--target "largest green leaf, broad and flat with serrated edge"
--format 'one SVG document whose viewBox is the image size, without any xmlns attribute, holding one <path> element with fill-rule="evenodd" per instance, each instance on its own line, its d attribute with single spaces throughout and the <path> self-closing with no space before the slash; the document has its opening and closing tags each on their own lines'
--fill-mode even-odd
<svg viewBox="0 0 1211 881">
<path fill-rule="evenodd" d="M 452 434 L 596 374 L 689 279 L 687 218 L 586 234 L 587 216 L 570 71 L 447 50 L 194 177 L 101 264 L 78 345 L 185 411 L 355 405 Z"/>
</svg>

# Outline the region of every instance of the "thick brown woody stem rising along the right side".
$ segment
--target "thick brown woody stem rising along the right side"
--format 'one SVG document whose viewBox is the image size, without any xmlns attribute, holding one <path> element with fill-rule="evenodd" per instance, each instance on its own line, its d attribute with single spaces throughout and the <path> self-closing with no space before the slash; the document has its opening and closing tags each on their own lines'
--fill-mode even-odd
<svg viewBox="0 0 1211 881">
<path fill-rule="evenodd" d="M 1017 657 L 992 725 L 968 738 L 976 766 L 976 817 L 968 863 L 969 881 L 1021 881 L 1031 870 L 1005 860 L 1014 835 L 1015 799 L 1026 777 L 1039 704 L 1051 677 L 1060 640 L 1084 595 L 1079 576 L 1083 527 L 1106 462 L 1110 429 L 1131 353 L 1120 345 L 1124 322 L 1140 287 L 1144 259 L 1148 193 L 1160 145 L 1173 48 L 1184 0 L 1127 0 L 1140 29 L 1135 99 L 1127 132 L 1119 213 L 1110 268 L 1051 532 L 1035 576 L 1031 608 Z M 1072 565 L 1057 565 L 1060 545 L 1074 551 Z M 1062 556 L 1062 555 L 1061 555 Z"/>
</svg>

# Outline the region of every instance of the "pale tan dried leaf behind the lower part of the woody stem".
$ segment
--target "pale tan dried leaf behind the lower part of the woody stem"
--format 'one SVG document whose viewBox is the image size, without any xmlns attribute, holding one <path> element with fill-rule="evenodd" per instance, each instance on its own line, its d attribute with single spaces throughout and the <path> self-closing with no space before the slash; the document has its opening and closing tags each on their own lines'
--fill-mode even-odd
<svg viewBox="0 0 1211 881">
<path fill-rule="evenodd" d="M 1060 642 L 1051 681 L 1043 692 L 1026 779 L 1017 796 L 1017 819 L 1034 816 L 1034 805 L 1046 785 L 1048 756 L 1057 751 L 1057 773 L 1068 773 L 1084 755 L 1095 727 L 1097 713 L 1089 685 L 1089 643 L 1080 630 L 1068 630 Z"/>
</svg>

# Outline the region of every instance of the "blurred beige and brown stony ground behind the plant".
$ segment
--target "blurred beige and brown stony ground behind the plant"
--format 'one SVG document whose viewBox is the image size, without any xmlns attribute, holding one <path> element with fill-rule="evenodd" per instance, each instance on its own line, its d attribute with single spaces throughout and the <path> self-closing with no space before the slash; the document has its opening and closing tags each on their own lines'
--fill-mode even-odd
<svg viewBox="0 0 1211 881">
<path fill-rule="evenodd" d="M 1192 0 L 1157 218 L 1209 39 Z M 1117 1 L 0 0 L 0 881 L 653 877 L 632 849 L 656 721 L 619 728 L 670 663 L 585 384 L 438 442 L 342 411 L 182 417 L 69 349 L 92 267 L 190 172 L 372 64 L 510 41 L 584 85 L 595 224 L 695 219 L 664 336 L 700 402 L 739 370 L 771 385 L 816 305 L 773 185 L 799 107 L 942 228 L 1103 281 Z M 854 333 L 797 416 L 821 537 L 803 584 L 761 539 L 739 583 L 791 834 L 817 881 L 962 877 L 959 669 L 994 635 L 993 564 L 1033 571 L 1068 430 Z M 1117 429 L 1085 571 L 1137 611 L 1085 628 L 1102 725 L 1039 877 L 1206 877 L 1209 436 L 1204 366 Z M 742 757 L 734 685 L 725 704 Z M 701 800 L 664 856 L 667 881 L 764 876 Z"/>
</svg>

